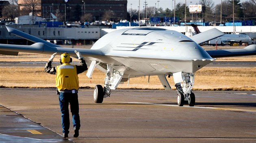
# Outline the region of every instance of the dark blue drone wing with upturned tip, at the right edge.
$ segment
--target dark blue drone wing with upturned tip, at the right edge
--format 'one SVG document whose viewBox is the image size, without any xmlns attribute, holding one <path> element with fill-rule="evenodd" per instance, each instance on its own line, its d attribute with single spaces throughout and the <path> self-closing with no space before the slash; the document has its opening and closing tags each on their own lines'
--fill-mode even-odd
<svg viewBox="0 0 256 143">
<path fill-rule="evenodd" d="M 256 44 L 239 49 L 206 50 L 213 58 L 256 55 Z"/>
</svg>

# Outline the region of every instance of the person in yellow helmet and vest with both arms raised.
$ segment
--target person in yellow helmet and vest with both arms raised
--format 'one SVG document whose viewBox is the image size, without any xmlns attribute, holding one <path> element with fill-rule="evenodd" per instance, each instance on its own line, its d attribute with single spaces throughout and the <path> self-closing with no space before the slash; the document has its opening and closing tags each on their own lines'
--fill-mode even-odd
<svg viewBox="0 0 256 143">
<path fill-rule="evenodd" d="M 75 50 L 75 53 L 80 60 L 80 65 L 71 65 L 72 58 L 68 53 L 61 54 L 61 65 L 52 67 L 52 60 L 57 53 L 54 53 L 49 62 L 46 63 L 44 70 L 49 74 L 56 74 L 56 88 L 59 94 L 59 104 L 61 108 L 61 123 L 63 137 L 67 138 L 69 133 L 69 110 L 72 113 L 72 122 L 74 127 L 74 137 L 79 136 L 80 129 L 80 117 L 79 117 L 79 105 L 78 105 L 78 74 L 87 70 L 87 65 L 80 52 Z"/>
</svg>

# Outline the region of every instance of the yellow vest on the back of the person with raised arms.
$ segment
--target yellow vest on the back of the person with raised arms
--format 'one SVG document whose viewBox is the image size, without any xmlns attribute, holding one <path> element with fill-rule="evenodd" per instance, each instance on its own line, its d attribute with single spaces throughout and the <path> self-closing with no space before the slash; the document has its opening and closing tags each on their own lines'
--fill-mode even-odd
<svg viewBox="0 0 256 143">
<path fill-rule="evenodd" d="M 76 65 L 63 63 L 56 66 L 56 88 L 58 90 L 72 90 L 79 88 L 78 76 L 76 72 Z"/>
</svg>

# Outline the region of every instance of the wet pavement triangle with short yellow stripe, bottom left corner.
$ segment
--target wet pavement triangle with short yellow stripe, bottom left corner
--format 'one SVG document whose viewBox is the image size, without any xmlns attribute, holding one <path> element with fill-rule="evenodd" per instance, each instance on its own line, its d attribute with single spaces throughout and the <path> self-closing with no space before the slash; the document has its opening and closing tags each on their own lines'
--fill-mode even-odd
<svg viewBox="0 0 256 143">
<path fill-rule="evenodd" d="M 68 143 L 56 132 L 0 105 L 1 143 Z"/>
</svg>

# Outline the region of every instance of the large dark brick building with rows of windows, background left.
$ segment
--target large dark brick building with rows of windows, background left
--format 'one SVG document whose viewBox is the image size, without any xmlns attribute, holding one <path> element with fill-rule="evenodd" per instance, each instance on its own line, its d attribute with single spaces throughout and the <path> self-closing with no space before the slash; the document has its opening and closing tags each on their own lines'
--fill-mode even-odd
<svg viewBox="0 0 256 143">
<path fill-rule="evenodd" d="M 26 9 L 28 0 L 18 0 L 20 10 Z M 91 13 L 93 20 L 102 20 L 105 13 L 109 20 L 127 19 L 127 0 L 36 0 L 35 14 L 45 19 L 51 19 L 53 13 L 60 21 L 80 21 L 80 17 Z"/>
</svg>

